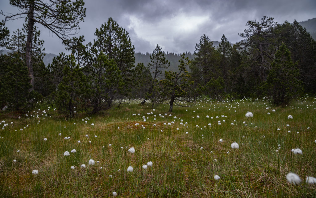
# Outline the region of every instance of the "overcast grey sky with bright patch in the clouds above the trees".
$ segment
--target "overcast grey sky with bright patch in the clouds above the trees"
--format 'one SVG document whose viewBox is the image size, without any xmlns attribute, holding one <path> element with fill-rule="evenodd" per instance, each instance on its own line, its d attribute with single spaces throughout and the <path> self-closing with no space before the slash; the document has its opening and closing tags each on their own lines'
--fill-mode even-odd
<svg viewBox="0 0 316 198">
<path fill-rule="evenodd" d="M 157 44 L 168 52 L 194 52 L 195 44 L 206 34 L 220 41 L 225 34 L 235 43 L 241 38 L 248 20 L 270 16 L 283 23 L 304 21 L 316 17 L 316 0 L 84 0 L 87 8 L 85 21 L 80 24 L 79 35 L 93 42 L 96 28 L 109 17 L 125 28 L 135 45 L 135 51 L 152 52 Z M 3 13 L 15 14 L 18 10 L 1 0 Z M 0 20 L 4 19 L 1 15 Z M 24 20 L 9 21 L 10 33 L 21 28 Z M 40 24 L 41 39 L 46 53 L 65 51 L 57 36 Z"/>
</svg>

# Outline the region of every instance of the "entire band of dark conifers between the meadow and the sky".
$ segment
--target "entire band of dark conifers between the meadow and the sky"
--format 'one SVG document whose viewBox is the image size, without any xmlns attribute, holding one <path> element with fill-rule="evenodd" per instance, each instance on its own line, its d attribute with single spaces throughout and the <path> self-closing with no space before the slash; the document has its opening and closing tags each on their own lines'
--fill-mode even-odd
<svg viewBox="0 0 316 198">
<path fill-rule="evenodd" d="M 0 56 L 1 109 L 27 109 L 45 98 L 61 114 L 74 117 L 78 111 L 95 114 L 140 98 L 140 105 L 150 102 L 153 108 L 168 103 L 171 112 L 173 105 L 198 96 L 270 96 L 275 105 L 286 105 L 295 96 L 316 91 L 316 43 L 297 21 L 277 24 L 266 16 L 248 21 L 239 34 L 243 40 L 234 45 L 223 35 L 215 47 L 202 35 L 193 57 L 180 54 L 175 70 L 166 58 L 174 54 L 164 53 L 158 44 L 148 54 L 150 62 L 135 63 L 129 33 L 112 18 L 87 45 L 83 36 L 70 37 L 85 16 L 81 0 L 10 3 L 27 12 L 24 26 L 11 36 L 5 21 L 0 23 L 0 45 L 12 51 Z M 69 8 L 71 16 L 64 13 Z M 52 32 L 71 54 L 60 53 L 45 67 L 44 41 L 34 24 L 56 28 Z"/>
</svg>

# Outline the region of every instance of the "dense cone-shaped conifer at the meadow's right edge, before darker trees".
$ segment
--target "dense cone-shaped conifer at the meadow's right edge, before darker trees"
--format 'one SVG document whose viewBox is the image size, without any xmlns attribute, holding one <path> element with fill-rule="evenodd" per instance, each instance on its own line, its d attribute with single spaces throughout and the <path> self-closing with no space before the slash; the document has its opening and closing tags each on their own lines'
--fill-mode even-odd
<svg viewBox="0 0 316 198">
<path fill-rule="evenodd" d="M 287 105 L 301 92 L 297 62 L 293 63 L 291 52 L 284 43 L 276 51 L 266 83 L 275 105 Z"/>
</svg>

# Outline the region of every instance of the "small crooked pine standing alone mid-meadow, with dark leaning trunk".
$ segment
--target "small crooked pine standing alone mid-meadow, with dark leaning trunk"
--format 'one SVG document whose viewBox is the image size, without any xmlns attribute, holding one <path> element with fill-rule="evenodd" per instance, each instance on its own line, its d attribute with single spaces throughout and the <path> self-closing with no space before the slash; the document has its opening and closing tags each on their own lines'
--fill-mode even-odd
<svg viewBox="0 0 316 198">
<path fill-rule="evenodd" d="M 173 103 L 179 105 L 177 102 L 187 100 L 191 97 L 189 93 L 193 93 L 191 91 L 193 81 L 191 81 L 190 74 L 186 70 L 189 64 L 189 58 L 185 58 L 185 54 L 183 53 L 179 60 L 179 71 L 165 71 L 165 79 L 160 81 L 162 86 L 162 90 L 160 91 L 161 99 L 170 100 L 169 112 L 172 112 Z"/>
</svg>

